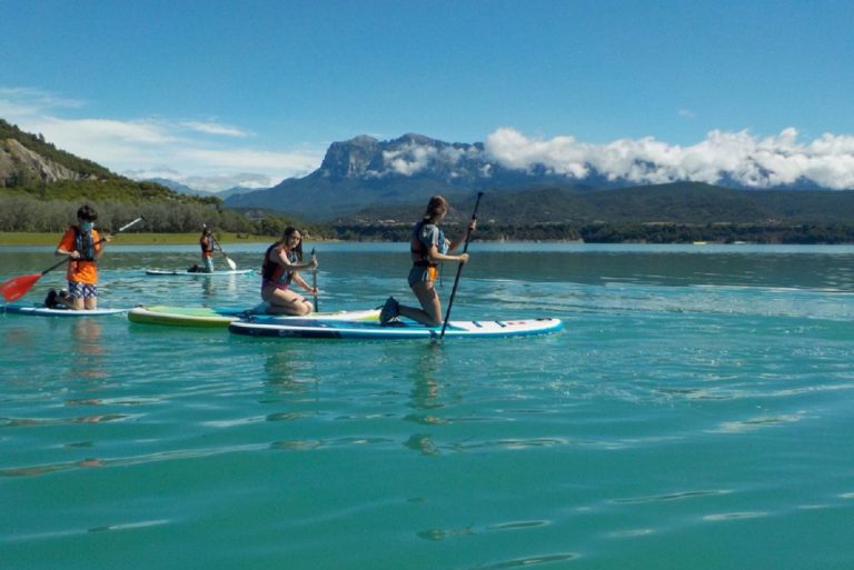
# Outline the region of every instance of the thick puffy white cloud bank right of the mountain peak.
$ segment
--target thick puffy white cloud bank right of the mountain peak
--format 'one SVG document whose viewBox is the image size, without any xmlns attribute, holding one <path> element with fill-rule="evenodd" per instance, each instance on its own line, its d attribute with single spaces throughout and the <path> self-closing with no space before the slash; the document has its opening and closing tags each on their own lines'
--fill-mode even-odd
<svg viewBox="0 0 854 570">
<path fill-rule="evenodd" d="M 767 138 L 748 131 L 714 130 L 688 147 L 652 137 L 606 144 L 583 143 L 573 137 L 533 139 L 515 129 L 502 128 L 487 137 L 485 148 L 506 168 L 532 169 L 542 164 L 577 178 L 596 169 L 612 180 L 635 183 L 716 183 L 728 177 L 755 188 L 806 179 L 824 188 L 854 189 L 854 136 L 826 133 L 801 142 L 793 128 Z"/>
</svg>

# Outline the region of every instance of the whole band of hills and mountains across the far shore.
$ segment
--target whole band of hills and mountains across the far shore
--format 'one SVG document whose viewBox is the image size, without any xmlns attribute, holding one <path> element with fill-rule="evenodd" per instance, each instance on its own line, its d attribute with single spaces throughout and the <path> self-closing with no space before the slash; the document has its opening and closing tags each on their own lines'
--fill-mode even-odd
<svg viewBox="0 0 854 570">
<path fill-rule="evenodd" d="M 196 231 L 214 223 L 270 236 L 296 223 L 344 239 L 405 239 L 428 197 L 447 196 L 453 204 L 447 222 L 463 224 L 484 191 L 481 239 L 854 241 L 851 191 L 627 186 L 596 176 L 583 182 L 546 168 L 502 167 L 481 144 L 406 134 L 336 142 L 307 177 L 266 190 L 206 196 L 166 179 L 132 181 L 0 119 L 0 208 L 31 213 L 7 216 L 0 231 L 54 231 L 67 223 L 72 206 L 89 200 L 117 220 L 145 213 L 153 231 Z"/>
</svg>

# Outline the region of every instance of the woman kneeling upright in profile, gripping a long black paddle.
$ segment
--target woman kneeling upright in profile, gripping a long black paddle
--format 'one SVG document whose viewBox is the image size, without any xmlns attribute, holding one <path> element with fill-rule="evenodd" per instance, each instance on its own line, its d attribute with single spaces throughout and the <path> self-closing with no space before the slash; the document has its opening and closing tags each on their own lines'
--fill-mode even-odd
<svg viewBox="0 0 854 570">
<path fill-rule="evenodd" d="M 450 256 L 463 242 L 466 236 L 454 241 L 445 239 L 445 233 L 438 223 L 445 219 L 450 204 L 444 196 L 434 196 L 427 203 L 427 211 L 421 221 L 415 224 L 409 238 L 409 251 L 413 256 L 413 269 L 409 270 L 409 288 L 421 307 L 407 307 L 389 297 L 379 313 L 379 321 L 388 324 L 398 316 L 404 316 L 427 327 L 441 326 L 441 301 L 434 288 L 436 268 L 440 261 L 468 261 L 468 253 Z M 477 221 L 471 220 L 468 228 L 475 231 Z"/>
</svg>

